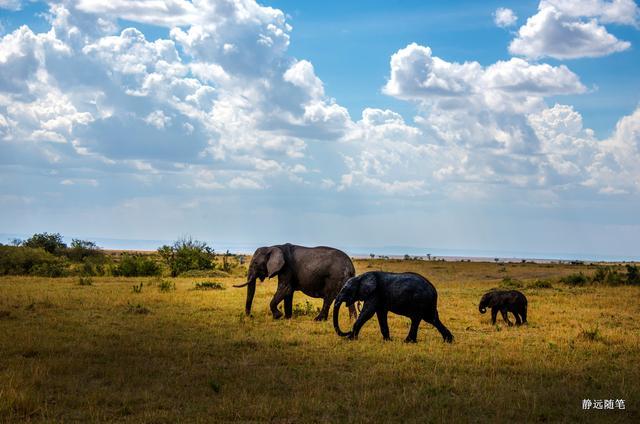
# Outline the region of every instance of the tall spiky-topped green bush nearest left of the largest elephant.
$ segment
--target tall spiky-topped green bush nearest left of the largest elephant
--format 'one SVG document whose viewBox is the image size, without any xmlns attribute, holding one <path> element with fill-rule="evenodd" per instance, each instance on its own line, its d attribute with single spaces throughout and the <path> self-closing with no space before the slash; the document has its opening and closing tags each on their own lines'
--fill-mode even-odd
<svg viewBox="0 0 640 424">
<path fill-rule="evenodd" d="M 172 277 L 191 270 L 213 269 L 213 249 L 207 243 L 190 237 L 176 241 L 173 246 L 164 245 L 158 253 L 169 266 Z"/>
</svg>

